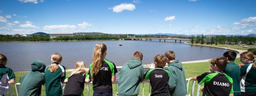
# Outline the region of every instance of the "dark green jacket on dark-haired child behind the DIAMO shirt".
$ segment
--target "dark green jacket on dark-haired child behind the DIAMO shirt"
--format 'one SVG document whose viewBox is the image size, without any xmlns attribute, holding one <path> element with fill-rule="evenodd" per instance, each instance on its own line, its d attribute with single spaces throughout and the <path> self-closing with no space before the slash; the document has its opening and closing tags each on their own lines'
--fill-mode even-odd
<svg viewBox="0 0 256 96">
<path fill-rule="evenodd" d="M 240 89 L 240 68 L 234 62 L 228 62 L 225 73 L 233 79 L 234 96 L 241 95 Z"/>
</svg>

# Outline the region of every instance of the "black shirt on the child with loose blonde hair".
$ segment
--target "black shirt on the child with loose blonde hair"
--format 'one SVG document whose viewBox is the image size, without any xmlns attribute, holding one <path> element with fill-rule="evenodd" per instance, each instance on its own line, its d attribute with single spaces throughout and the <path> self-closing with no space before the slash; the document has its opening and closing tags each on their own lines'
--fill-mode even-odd
<svg viewBox="0 0 256 96">
<path fill-rule="evenodd" d="M 79 74 L 73 74 L 71 77 L 67 77 L 68 82 L 65 85 L 64 96 L 65 95 L 80 95 L 83 96 L 83 89 L 85 87 L 85 79 L 89 79 L 89 75 L 85 74 L 83 76 L 81 72 Z"/>
</svg>

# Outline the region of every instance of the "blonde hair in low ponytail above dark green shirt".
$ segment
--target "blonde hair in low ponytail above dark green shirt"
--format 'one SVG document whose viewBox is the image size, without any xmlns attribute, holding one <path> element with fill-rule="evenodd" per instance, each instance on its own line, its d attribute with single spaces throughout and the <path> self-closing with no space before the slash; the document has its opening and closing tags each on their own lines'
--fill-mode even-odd
<svg viewBox="0 0 256 96">
<path fill-rule="evenodd" d="M 52 54 L 51 61 L 52 61 L 52 64 L 48 69 L 51 72 L 56 72 L 59 68 L 57 64 L 60 64 L 60 62 L 62 61 L 62 56 L 59 53 L 54 53 Z"/>
</svg>

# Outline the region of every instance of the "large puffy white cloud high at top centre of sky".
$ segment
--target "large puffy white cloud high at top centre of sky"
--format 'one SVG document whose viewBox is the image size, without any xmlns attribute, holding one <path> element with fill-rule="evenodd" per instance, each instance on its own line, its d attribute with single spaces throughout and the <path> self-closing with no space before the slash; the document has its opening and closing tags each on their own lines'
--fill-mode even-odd
<svg viewBox="0 0 256 96">
<path fill-rule="evenodd" d="M 119 13 L 122 12 L 123 10 L 129 10 L 129 11 L 133 11 L 135 9 L 135 5 L 133 5 L 132 3 L 126 4 L 126 3 L 122 3 L 120 5 L 116 5 L 113 8 L 108 8 L 109 10 L 113 10 L 113 12 Z"/>
</svg>

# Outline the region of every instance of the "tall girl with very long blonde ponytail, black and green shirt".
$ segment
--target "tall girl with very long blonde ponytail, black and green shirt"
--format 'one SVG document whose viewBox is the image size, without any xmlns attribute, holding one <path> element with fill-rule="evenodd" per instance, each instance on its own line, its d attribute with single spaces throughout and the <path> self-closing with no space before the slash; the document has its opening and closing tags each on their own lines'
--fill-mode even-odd
<svg viewBox="0 0 256 96">
<path fill-rule="evenodd" d="M 93 60 L 89 68 L 93 81 L 93 96 L 112 96 L 112 82 L 116 80 L 115 65 L 106 60 L 107 46 L 96 44 Z"/>
</svg>

